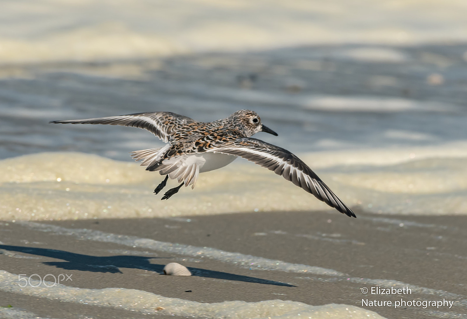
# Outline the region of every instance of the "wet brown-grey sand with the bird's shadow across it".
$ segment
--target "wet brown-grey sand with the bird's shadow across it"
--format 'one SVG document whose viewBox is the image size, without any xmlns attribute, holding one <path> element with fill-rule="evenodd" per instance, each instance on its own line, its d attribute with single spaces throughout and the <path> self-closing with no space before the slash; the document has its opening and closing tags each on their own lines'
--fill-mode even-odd
<svg viewBox="0 0 467 319">
<path fill-rule="evenodd" d="M 448 307 L 363 306 L 386 318 L 453 318 L 467 310 L 467 216 L 370 215 L 357 219 L 330 211 L 268 212 L 178 218 L 48 221 L 69 229 L 162 242 L 210 247 L 228 252 L 339 271 L 345 276 L 258 270 L 164 251 L 57 235 L 28 227 L 0 224 L 0 269 L 27 276 L 72 274 L 65 285 L 80 288 L 121 287 L 198 302 L 294 300 L 309 305 L 362 306 L 369 300 L 446 300 Z M 163 265 L 178 262 L 192 277 L 159 275 Z M 109 266 L 109 265 L 113 265 Z M 101 266 L 101 267 L 99 267 Z M 353 278 L 348 280 L 348 278 Z M 361 278 L 361 282 L 355 282 Z M 363 294 L 371 279 L 407 284 L 411 294 Z M 388 282 L 380 282 L 390 288 Z M 191 291 L 191 292 L 186 292 Z M 1 306 L 53 318 L 136 318 L 142 313 L 80 305 L 0 290 Z M 165 313 L 167 314 L 167 313 Z M 146 315 L 150 318 L 153 315 Z M 154 315 L 163 318 L 161 314 Z M 174 318 L 172 316 L 172 318 Z"/>
</svg>

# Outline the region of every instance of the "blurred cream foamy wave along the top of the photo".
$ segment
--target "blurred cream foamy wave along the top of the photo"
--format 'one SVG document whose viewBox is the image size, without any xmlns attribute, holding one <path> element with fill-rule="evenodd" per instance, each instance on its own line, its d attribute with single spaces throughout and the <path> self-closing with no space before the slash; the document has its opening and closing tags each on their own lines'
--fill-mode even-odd
<svg viewBox="0 0 467 319">
<path fill-rule="evenodd" d="M 4 0 L 1 6 L 1 64 L 467 40 L 462 0 Z M 375 56 L 403 59 L 389 51 Z"/>
</svg>

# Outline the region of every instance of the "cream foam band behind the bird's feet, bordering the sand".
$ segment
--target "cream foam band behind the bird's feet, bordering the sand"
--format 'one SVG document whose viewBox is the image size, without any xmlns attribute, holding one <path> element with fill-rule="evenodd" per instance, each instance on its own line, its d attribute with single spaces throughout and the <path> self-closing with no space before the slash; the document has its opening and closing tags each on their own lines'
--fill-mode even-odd
<svg viewBox="0 0 467 319">
<path fill-rule="evenodd" d="M 302 154 L 347 205 L 376 213 L 467 214 L 465 143 Z M 246 160 L 199 176 L 168 201 L 162 176 L 137 163 L 84 153 L 38 153 L 0 161 L 0 219 L 164 217 L 332 209 Z M 169 181 L 168 187 L 175 186 Z"/>
</svg>

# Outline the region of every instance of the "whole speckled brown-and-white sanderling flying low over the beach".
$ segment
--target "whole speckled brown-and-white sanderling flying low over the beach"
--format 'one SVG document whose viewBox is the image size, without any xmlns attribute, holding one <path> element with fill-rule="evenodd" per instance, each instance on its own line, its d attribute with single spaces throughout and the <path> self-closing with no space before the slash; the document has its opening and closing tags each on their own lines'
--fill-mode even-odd
<svg viewBox="0 0 467 319">
<path fill-rule="evenodd" d="M 159 193 L 167 179 L 181 184 L 169 189 L 162 199 L 169 199 L 183 185 L 195 186 L 199 173 L 212 171 L 242 157 L 268 168 L 298 187 L 316 196 L 347 216 L 352 210 L 296 155 L 251 136 L 257 132 L 277 133 L 261 123 L 253 111 L 241 110 L 228 118 L 203 123 L 171 112 L 135 113 L 106 118 L 50 121 L 70 124 L 110 124 L 139 127 L 162 139 L 166 146 L 131 152 L 135 160 L 143 160 L 147 171 L 166 175 L 156 187 Z"/>
</svg>

